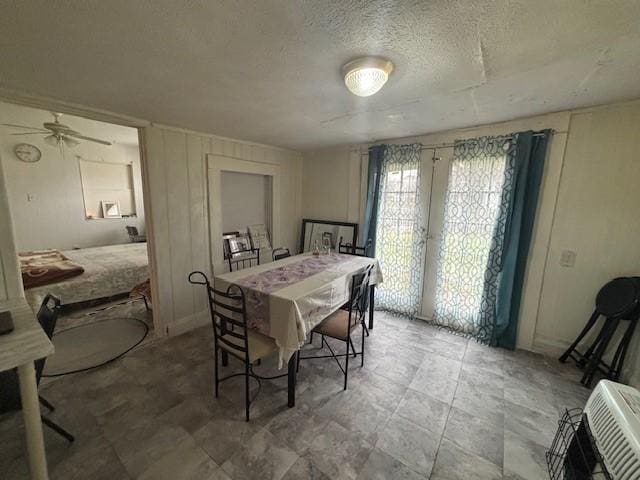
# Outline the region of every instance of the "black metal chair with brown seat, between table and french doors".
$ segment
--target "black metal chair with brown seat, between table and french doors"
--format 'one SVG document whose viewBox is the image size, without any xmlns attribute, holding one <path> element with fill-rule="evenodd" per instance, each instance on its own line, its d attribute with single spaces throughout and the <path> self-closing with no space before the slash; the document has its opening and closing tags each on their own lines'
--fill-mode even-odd
<svg viewBox="0 0 640 480">
<path fill-rule="evenodd" d="M 325 346 L 331 352 L 330 355 L 316 355 L 310 357 L 301 357 L 298 355 L 298 364 L 300 360 L 310 360 L 317 358 L 333 358 L 338 367 L 344 374 L 344 389 L 347 389 L 347 381 L 349 378 L 349 357 L 353 355 L 356 358 L 360 355 L 360 366 L 364 366 L 364 338 L 366 332 L 365 318 L 367 313 L 367 305 L 369 299 L 369 281 L 371 280 L 371 270 L 373 265 L 369 265 L 364 272 L 355 274 L 351 278 L 351 289 L 349 294 L 349 301 L 347 302 L 348 308 L 346 310 L 340 309 L 327 318 L 325 318 L 319 325 L 313 330 L 313 333 L 320 334 L 322 336 L 321 349 Z M 355 329 L 362 327 L 362 340 L 360 351 L 356 351 L 353 345 L 352 334 Z M 329 342 L 324 337 L 334 338 L 345 342 L 346 352 L 344 354 L 337 354 Z M 338 360 L 338 357 L 344 357 L 344 366 Z"/>
</svg>

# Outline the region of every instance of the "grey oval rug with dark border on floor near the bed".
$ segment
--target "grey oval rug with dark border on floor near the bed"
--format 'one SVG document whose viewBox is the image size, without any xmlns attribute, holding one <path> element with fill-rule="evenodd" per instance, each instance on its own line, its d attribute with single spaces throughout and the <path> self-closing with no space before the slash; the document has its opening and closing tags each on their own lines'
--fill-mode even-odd
<svg viewBox="0 0 640 480">
<path fill-rule="evenodd" d="M 53 335 L 55 353 L 47 357 L 43 377 L 57 377 L 100 367 L 144 340 L 149 327 L 137 318 L 107 318 Z"/>
</svg>

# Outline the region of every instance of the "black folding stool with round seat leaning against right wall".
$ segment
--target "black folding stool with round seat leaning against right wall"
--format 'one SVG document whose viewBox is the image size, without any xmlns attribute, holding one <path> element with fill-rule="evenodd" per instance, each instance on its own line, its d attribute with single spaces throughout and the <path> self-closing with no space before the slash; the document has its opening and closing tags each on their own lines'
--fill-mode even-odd
<svg viewBox="0 0 640 480">
<path fill-rule="evenodd" d="M 579 352 L 578 345 L 596 325 L 601 316 L 604 317 L 604 322 L 600 332 L 585 353 Z M 620 277 L 611 280 L 598 292 L 596 308 L 593 314 L 578 335 L 578 338 L 559 358 L 560 362 L 564 363 L 571 358 L 579 367 L 584 368 L 585 372 L 581 383 L 587 387 L 591 385 L 597 372 L 601 372 L 610 380 L 617 381 L 622 373 L 624 359 L 639 318 L 640 278 Z M 607 364 L 602 359 L 622 321 L 628 321 L 629 324 L 618 343 L 611 364 Z"/>
</svg>

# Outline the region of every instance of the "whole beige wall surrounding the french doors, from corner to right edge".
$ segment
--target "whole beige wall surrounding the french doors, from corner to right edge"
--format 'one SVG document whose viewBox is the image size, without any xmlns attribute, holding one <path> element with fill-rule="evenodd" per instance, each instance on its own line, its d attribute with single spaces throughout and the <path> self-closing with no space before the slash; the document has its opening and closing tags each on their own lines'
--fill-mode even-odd
<svg viewBox="0 0 640 480">
<path fill-rule="evenodd" d="M 518 332 L 520 348 L 555 354 L 584 325 L 595 293 L 604 282 L 640 273 L 639 126 L 640 101 L 635 101 L 387 143 L 442 144 L 528 129 L 556 131 L 544 172 Z M 366 151 L 365 146 L 360 149 Z M 363 180 L 344 175 L 346 167 L 335 164 L 353 150 L 353 146 L 345 146 L 305 154 L 303 216 L 322 208 L 319 213 L 326 218 L 345 217 L 342 203 L 335 201 L 337 192 L 360 189 Z M 446 185 L 451 154 L 451 149 L 437 152 L 442 160 L 436 164 L 434 190 Z M 364 175 L 366 156 L 362 159 Z M 331 168 L 322 168 L 323 161 Z M 334 171 L 341 175 L 334 175 Z M 325 190 L 322 186 L 326 184 L 330 187 Z M 313 199 L 308 198 L 310 192 Z M 361 199 L 364 201 L 363 195 Z M 437 242 L 443 205 L 434 202 L 432 210 L 432 234 Z M 559 265 L 562 250 L 577 253 L 574 268 Z M 437 244 L 430 243 L 431 264 L 435 251 Z"/>
</svg>

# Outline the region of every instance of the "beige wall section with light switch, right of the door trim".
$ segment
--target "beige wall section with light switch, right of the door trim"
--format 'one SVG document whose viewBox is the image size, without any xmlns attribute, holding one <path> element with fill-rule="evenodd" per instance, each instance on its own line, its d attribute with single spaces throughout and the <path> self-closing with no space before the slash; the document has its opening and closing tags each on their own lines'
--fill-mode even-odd
<svg viewBox="0 0 640 480">
<path fill-rule="evenodd" d="M 575 338 L 600 287 L 640 275 L 640 102 L 571 116 L 537 317 L 535 347 L 553 351 Z M 560 265 L 576 252 L 573 268 Z M 627 378 L 640 374 L 640 341 Z M 629 370 L 633 370 L 630 372 Z M 639 378 L 633 378 L 635 385 Z"/>
</svg>

